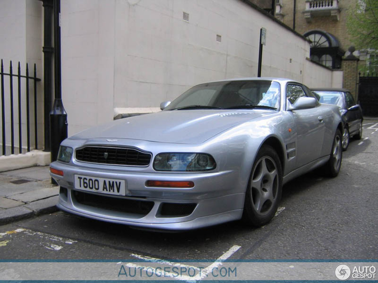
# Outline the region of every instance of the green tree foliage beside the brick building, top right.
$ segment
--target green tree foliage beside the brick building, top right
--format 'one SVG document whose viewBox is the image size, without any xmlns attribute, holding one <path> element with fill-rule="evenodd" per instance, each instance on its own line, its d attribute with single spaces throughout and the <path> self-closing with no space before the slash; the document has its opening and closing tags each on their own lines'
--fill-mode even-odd
<svg viewBox="0 0 378 283">
<path fill-rule="evenodd" d="M 356 49 L 378 49 L 378 0 L 357 0 L 347 28 Z"/>
</svg>

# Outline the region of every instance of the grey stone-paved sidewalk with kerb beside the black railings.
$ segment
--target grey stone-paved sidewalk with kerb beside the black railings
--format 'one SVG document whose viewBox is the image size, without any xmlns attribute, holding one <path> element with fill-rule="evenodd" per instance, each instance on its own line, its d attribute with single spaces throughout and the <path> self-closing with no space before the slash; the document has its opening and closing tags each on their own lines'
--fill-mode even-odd
<svg viewBox="0 0 378 283">
<path fill-rule="evenodd" d="M 0 225 L 57 211 L 59 186 L 51 185 L 49 166 L 0 173 Z"/>
</svg>

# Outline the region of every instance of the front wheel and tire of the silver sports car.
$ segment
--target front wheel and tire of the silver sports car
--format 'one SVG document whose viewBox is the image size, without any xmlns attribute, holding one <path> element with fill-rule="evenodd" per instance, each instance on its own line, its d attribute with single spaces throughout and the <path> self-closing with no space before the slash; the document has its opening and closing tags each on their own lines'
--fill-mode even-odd
<svg viewBox="0 0 378 283">
<path fill-rule="evenodd" d="M 243 220 L 261 227 L 277 211 L 282 194 L 282 167 L 277 152 L 263 146 L 256 155 L 245 193 Z"/>
</svg>

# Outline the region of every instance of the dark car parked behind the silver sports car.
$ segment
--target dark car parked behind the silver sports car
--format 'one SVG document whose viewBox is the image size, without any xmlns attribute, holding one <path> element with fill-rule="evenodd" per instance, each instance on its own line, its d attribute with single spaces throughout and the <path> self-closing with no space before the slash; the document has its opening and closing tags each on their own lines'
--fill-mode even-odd
<svg viewBox="0 0 378 283">
<path fill-rule="evenodd" d="M 350 137 L 360 140 L 362 138 L 363 115 L 361 106 L 347 89 L 343 88 L 313 88 L 315 96 L 320 103 L 335 104 L 339 106 L 344 132 L 342 133 L 342 150 L 347 150 Z"/>
</svg>

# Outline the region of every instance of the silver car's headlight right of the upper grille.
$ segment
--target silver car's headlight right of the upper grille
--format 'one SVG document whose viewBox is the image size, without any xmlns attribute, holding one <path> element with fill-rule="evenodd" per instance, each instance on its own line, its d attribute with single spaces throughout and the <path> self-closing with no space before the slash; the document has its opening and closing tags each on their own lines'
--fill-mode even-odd
<svg viewBox="0 0 378 283">
<path fill-rule="evenodd" d="M 214 158 L 206 153 L 160 153 L 153 160 L 156 171 L 209 171 L 215 167 Z"/>
</svg>

